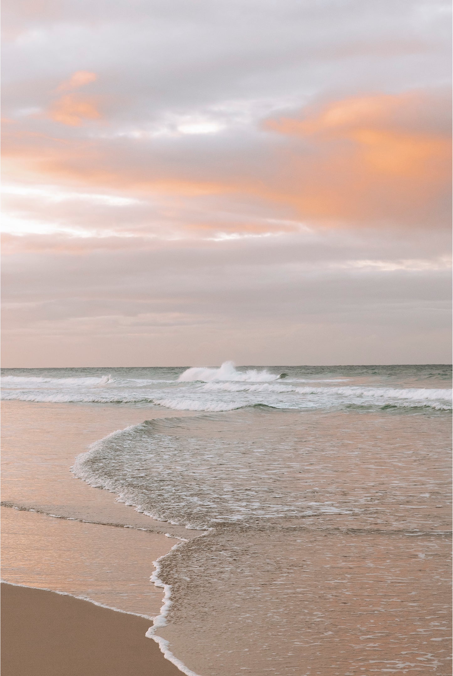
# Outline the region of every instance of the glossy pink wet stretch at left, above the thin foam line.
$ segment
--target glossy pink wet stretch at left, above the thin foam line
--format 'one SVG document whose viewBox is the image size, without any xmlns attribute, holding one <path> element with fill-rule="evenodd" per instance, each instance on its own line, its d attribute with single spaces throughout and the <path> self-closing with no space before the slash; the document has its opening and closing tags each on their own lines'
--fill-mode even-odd
<svg viewBox="0 0 453 676">
<path fill-rule="evenodd" d="M 116 495 L 94 490 L 70 472 L 76 456 L 105 435 L 149 418 L 184 415 L 193 413 L 111 404 L 1 402 L 2 504 L 78 521 L 129 525 L 185 538 L 199 535 L 191 534 L 182 526 L 138 514 L 117 502 Z"/>
</svg>

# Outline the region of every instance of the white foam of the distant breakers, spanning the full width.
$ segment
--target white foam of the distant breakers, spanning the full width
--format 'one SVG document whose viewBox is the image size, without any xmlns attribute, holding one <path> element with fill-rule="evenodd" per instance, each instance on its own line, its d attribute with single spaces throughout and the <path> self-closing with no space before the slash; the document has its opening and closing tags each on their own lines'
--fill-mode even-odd
<svg viewBox="0 0 453 676">
<path fill-rule="evenodd" d="M 155 373 L 156 379 L 151 379 L 151 373 L 144 372 L 142 379 L 127 377 L 135 375 L 133 372 L 122 372 L 120 377 L 99 373 L 88 377 L 86 370 L 80 373 L 81 377 L 6 375 L 1 398 L 55 404 L 141 404 L 200 412 L 259 405 L 298 410 L 348 406 L 450 410 L 452 405 L 451 389 L 388 387 L 387 383 L 346 385 L 338 379 L 317 380 L 313 384 L 294 377 L 282 381 L 281 376 L 267 370 L 240 372 L 232 362 L 220 368 L 189 368 L 178 379 L 173 370 L 174 380 L 162 379 L 159 372 Z"/>
</svg>

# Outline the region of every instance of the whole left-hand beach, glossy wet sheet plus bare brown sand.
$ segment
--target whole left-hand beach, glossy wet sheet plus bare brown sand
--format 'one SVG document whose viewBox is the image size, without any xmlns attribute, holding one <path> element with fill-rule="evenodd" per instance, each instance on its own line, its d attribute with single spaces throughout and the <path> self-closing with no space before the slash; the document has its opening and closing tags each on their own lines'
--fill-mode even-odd
<svg viewBox="0 0 453 676">
<path fill-rule="evenodd" d="M 143 413 L 1 406 L 2 579 L 11 582 L 1 584 L 3 673 L 181 673 L 145 634 L 163 596 L 149 581 L 152 561 L 190 532 L 138 514 L 70 473 L 89 443 L 141 422 Z"/>
</svg>

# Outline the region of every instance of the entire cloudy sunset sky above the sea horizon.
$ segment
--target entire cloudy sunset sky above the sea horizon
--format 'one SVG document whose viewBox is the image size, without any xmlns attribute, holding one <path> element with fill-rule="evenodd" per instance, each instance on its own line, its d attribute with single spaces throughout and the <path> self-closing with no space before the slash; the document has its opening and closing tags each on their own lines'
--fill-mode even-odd
<svg viewBox="0 0 453 676">
<path fill-rule="evenodd" d="M 4 367 L 450 363 L 446 0 L 4 0 Z"/>
</svg>

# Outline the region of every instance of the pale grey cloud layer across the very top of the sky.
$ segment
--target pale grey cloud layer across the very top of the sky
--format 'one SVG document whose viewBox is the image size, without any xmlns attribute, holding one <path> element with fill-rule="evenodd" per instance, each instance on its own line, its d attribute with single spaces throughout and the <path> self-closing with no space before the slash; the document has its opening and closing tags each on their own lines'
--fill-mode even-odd
<svg viewBox="0 0 453 676">
<path fill-rule="evenodd" d="M 45 105 L 46 92 L 82 69 L 99 74 L 107 97 L 121 93 L 111 112 L 126 120 L 225 99 L 304 99 L 450 77 L 443 2 L 111 1 L 61 3 L 57 14 L 48 7 L 41 20 L 25 12 L 28 32 L 5 41 L 11 105 Z"/>
</svg>

